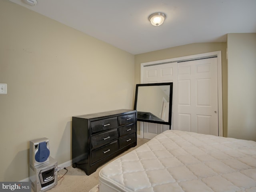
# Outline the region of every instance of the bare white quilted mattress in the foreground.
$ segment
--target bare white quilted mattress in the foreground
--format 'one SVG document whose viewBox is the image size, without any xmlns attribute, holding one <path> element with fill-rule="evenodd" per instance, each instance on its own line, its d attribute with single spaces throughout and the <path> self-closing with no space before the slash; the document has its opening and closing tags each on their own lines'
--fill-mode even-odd
<svg viewBox="0 0 256 192">
<path fill-rule="evenodd" d="M 99 178 L 100 192 L 256 192 L 256 142 L 168 130 Z"/>
</svg>

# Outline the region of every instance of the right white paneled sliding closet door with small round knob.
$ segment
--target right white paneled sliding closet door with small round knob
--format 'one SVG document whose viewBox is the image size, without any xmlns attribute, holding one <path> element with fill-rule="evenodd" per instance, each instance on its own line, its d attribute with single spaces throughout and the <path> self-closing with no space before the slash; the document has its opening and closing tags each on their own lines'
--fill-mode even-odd
<svg viewBox="0 0 256 192">
<path fill-rule="evenodd" d="M 218 136 L 217 58 L 178 63 L 174 129 Z"/>
</svg>

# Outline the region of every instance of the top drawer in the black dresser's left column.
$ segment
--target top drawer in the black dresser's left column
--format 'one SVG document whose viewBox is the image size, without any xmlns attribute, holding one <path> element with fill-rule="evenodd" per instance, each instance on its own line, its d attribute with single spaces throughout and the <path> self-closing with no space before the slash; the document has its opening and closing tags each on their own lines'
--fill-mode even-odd
<svg viewBox="0 0 256 192">
<path fill-rule="evenodd" d="M 91 122 L 92 134 L 117 127 L 117 117 Z"/>
</svg>

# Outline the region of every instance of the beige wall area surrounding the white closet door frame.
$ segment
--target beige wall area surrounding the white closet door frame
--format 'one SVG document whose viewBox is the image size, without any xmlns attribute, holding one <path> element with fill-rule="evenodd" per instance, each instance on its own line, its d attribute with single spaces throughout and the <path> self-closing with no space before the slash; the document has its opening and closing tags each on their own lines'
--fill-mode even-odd
<svg viewBox="0 0 256 192">
<path fill-rule="evenodd" d="M 222 94 L 223 94 L 223 136 L 227 136 L 228 120 L 228 76 L 226 60 L 226 43 L 194 43 L 173 48 L 148 52 L 135 55 L 135 83 L 140 84 L 140 64 L 144 62 L 177 58 L 207 52 L 222 52 Z M 140 124 L 138 123 L 138 134 L 140 134 Z"/>
</svg>

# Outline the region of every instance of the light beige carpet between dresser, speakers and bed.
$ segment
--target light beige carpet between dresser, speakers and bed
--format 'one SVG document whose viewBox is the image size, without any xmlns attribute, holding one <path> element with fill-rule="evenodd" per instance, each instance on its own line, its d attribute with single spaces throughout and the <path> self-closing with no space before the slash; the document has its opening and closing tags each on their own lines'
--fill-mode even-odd
<svg viewBox="0 0 256 192">
<path fill-rule="evenodd" d="M 141 146 L 142 144 L 148 141 L 149 141 L 148 139 L 138 138 L 136 147 L 130 148 L 126 152 L 117 156 L 116 158 L 138 148 L 139 146 Z M 115 160 L 116 158 L 114 158 L 113 160 Z M 106 164 L 100 166 L 96 170 L 96 172 L 90 174 L 89 176 L 86 175 L 83 170 L 79 168 L 72 168 L 72 166 L 67 167 L 68 172 L 66 174 L 65 174 L 66 170 L 62 169 L 58 173 L 58 179 L 59 179 L 58 185 L 48 191 L 49 192 L 89 192 L 94 186 L 98 184 L 98 179 L 99 179 L 98 175 L 99 175 L 100 169 Z"/>
</svg>

